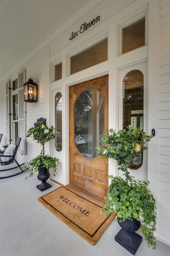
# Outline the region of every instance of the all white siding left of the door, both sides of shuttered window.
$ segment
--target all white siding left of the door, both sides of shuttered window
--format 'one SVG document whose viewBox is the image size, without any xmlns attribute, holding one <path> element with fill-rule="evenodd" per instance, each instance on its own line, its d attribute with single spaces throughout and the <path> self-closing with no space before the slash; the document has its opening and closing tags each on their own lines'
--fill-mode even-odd
<svg viewBox="0 0 170 256">
<path fill-rule="evenodd" d="M 29 128 L 34 126 L 37 119 L 40 117 L 46 118 L 47 125 L 49 125 L 48 113 L 48 88 L 47 84 L 47 57 L 46 57 L 46 47 L 37 52 L 32 58 L 22 64 L 20 68 L 14 71 L 9 79 L 13 80 L 17 78 L 19 71 L 26 70 L 26 81 L 29 78 L 33 78 L 34 82 L 38 84 L 38 102 L 36 103 L 26 103 L 26 132 Z M 6 144 L 6 80 L 0 83 L 0 132 L 3 133 L 1 140 L 0 149 L 2 145 Z M 28 162 L 41 152 L 41 146 L 33 141 L 32 138 L 27 139 L 27 155 L 21 155 L 17 153 L 17 160 L 20 162 Z M 46 153 L 49 154 L 49 145 L 45 146 Z M 27 174 L 26 174 L 27 175 Z"/>
</svg>

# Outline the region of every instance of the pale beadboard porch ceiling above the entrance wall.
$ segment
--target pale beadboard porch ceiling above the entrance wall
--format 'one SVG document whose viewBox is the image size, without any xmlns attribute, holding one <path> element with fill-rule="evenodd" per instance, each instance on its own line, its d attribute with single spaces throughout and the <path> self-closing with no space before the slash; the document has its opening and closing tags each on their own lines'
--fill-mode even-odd
<svg viewBox="0 0 170 256">
<path fill-rule="evenodd" d="M 116 13 L 135 0 L 0 0 L 0 80 L 70 21 L 107 1 Z"/>
</svg>

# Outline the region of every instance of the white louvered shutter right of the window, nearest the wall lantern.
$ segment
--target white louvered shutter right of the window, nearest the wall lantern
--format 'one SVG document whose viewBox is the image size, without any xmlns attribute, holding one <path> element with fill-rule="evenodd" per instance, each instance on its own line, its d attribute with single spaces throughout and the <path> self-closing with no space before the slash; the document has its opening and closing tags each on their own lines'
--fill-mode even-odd
<svg viewBox="0 0 170 256">
<path fill-rule="evenodd" d="M 18 153 L 26 155 L 26 106 L 24 101 L 24 83 L 26 82 L 26 70 L 18 73 L 18 131 L 21 137 Z"/>
</svg>

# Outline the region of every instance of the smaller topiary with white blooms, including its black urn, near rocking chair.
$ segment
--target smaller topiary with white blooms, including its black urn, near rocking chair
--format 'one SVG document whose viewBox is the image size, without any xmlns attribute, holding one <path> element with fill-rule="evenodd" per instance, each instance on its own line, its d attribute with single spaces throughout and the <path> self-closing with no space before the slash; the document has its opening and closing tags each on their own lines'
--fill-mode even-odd
<svg viewBox="0 0 170 256">
<path fill-rule="evenodd" d="M 33 158 L 30 162 L 27 162 L 26 168 L 29 170 L 29 177 L 32 177 L 35 172 L 38 171 L 37 178 L 42 181 L 40 185 L 37 185 L 37 188 L 40 191 L 44 191 L 51 187 L 50 184 L 46 182 L 49 179 L 49 168 L 53 168 L 54 176 L 56 176 L 56 162 L 58 162 L 57 158 L 53 158 L 49 155 L 44 154 L 44 145 L 46 142 L 55 138 L 55 134 L 53 133 L 54 127 L 51 126 L 48 128 L 43 123 L 37 124 L 35 127 L 32 127 L 28 130 L 27 137 L 33 137 L 33 140 L 37 140 L 37 143 L 40 143 L 42 146 L 42 150 L 40 155 Z M 28 179 L 28 176 L 25 178 Z"/>
</svg>

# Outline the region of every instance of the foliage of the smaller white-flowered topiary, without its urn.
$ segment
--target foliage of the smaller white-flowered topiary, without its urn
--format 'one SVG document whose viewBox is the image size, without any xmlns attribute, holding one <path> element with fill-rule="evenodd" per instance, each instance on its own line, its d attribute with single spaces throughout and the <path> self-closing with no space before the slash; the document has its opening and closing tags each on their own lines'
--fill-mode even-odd
<svg viewBox="0 0 170 256">
<path fill-rule="evenodd" d="M 32 177 L 34 173 L 38 171 L 39 166 L 46 167 L 46 169 L 53 168 L 53 175 L 56 176 L 56 162 L 58 163 L 58 159 L 44 154 L 45 143 L 55 138 L 55 134 L 53 131 L 53 126 L 48 128 L 43 123 L 40 123 L 37 126 L 32 127 L 28 130 L 27 137 L 33 137 L 33 140 L 37 140 L 37 143 L 40 143 L 42 146 L 41 154 L 33 158 L 30 162 L 26 163 L 26 168 L 30 172 L 29 177 Z M 25 179 L 27 180 L 29 177 L 27 176 Z"/>
</svg>

